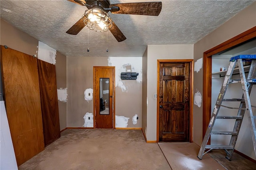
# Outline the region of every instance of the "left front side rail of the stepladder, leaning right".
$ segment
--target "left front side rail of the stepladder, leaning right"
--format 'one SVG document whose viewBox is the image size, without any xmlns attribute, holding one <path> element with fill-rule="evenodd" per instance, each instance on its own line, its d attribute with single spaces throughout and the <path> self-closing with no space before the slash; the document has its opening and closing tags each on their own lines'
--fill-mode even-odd
<svg viewBox="0 0 256 170">
<path fill-rule="evenodd" d="M 216 104 L 214 106 L 214 110 L 212 112 L 212 116 L 211 116 L 210 122 L 208 124 L 208 128 L 207 128 L 206 133 L 204 135 L 204 139 L 203 139 L 202 145 L 200 147 L 200 150 L 199 150 L 199 153 L 198 153 L 198 156 L 197 156 L 199 159 L 202 159 L 202 156 L 204 155 L 205 147 L 206 147 L 206 145 L 208 143 L 208 140 L 210 138 L 210 133 L 212 131 L 212 127 L 214 126 L 214 122 L 216 120 L 216 116 L 218 115 L 218 112 L 220 110 L 220 105 L 221 105 L 222 100 L 224 98 L 224 94 L 225 94 L 225 92 L 227 90 L 228 82 L 230 80 L 230 76 L 232 76 L 232 73 L 234 71 L 234 66 L 235 65 L 236 65 L 236 60 L 234 60 L 233 62 L 230 62 L 229 66 L 228 66 L 228 70 L 226 72 L 223 85 L 222 85 L 222 87 L 220 89 L 220 93 L 218 95 L 218 99 L 217 99 Z"/>
</svg>

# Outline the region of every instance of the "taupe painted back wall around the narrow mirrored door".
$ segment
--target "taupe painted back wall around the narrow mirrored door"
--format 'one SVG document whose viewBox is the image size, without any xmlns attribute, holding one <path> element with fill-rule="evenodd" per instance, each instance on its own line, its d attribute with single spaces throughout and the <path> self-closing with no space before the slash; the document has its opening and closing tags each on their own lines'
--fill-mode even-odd
<svg viewBox="0 0 256 170">
<path fill-rule="evenodd" d="M 108 66 L 108 57 L 67 57 L 67 127 L 82 127 L 84 124 L 84 115 L 86 112 L 93 113 L 93 100 L 84 99 L 84 91 L 93 88 L 93 66 Z M 134 58 L 127 57 L 126 61 Z M 126 61 L 120 62 L 119 65 L 127 64 Z M 114 62 L 112 66 L 115 66 Z M 140 66 L 142 68 L 142 66 Z M 116 72 L 119 67 L 116 66 Z M 141 73 L 139 73 L 141 74 Z M 120 78 L 120 74 L 116 74 L 116 81 Z M 128 128 L 142 127 L 142 83 L 136 80 L 122 81 L 127 91 L 116 86 L 116 115 L 130 118 L 128 120 Z M 132 117 L 138 114 L 137 124 L 132 123 Z"/>
</svg>

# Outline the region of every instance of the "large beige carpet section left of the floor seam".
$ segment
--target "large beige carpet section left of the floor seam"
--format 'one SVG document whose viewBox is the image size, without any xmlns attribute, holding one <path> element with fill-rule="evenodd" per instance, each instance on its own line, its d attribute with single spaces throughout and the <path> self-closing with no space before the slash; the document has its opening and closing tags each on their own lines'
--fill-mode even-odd
<svg viewBox="0 0 256 170">
<path fill-rule="evenodd" d="M 171 170 L 141 130 L 67 129 L 19 170 Z"/>
</svg>

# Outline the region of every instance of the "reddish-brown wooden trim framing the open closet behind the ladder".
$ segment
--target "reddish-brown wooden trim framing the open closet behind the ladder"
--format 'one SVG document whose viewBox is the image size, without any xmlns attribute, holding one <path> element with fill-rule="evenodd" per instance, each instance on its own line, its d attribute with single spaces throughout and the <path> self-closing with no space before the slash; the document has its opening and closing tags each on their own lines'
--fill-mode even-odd
<svg viewBox="0 0 256 170">
<path fill-rule="evenodd" d="M 212 55 L 256 38 L 256 26 L 204 52 L 203 73 L 203 136 L 212 113 Z"/>
</svg>

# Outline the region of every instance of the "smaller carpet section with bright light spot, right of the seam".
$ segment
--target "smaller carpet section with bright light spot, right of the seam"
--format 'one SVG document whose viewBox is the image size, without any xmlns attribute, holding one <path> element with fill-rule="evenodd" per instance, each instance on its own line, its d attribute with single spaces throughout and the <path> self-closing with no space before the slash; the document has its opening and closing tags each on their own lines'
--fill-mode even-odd
<svg viewBox="0 0 256 170">
<path fill-rule="evenodd" d="M 197 158 L 200 147 L 189 142 L 158 143 L 173 170 L 225 170 L 216 160 L 205 154 Z"/>
</svg>

